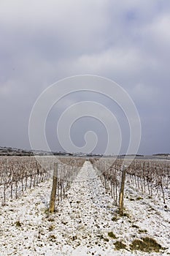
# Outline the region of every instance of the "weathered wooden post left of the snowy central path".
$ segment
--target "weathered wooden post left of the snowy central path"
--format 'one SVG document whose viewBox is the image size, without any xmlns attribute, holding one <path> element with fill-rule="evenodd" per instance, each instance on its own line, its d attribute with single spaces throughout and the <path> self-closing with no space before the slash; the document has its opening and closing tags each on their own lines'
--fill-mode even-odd
<svg viewBox="0 0 170 256">
<path fill-rule="evenodd" d="M 54 170 L 53 170 L 53 187 L 51 190 L 51 197 L 50 197 L 50 208 L 49 212 L 53 213 L 55 211 L 55 196 L 57 190 L 57 179 L 58 179 L 58 163 L 54 163 Z"/>
</svg>

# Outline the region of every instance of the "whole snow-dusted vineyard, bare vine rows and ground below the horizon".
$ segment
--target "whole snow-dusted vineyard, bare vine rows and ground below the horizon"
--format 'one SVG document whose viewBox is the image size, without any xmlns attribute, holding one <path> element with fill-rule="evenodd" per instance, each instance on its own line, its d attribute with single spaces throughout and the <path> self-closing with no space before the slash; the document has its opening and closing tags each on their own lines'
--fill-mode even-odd
<svg viewBox="0 0 170 256">
<path fill-rule="evenodd" d="M 1 157 L 0 255 L 169 255 L 169 170 L 166 160 Z"/>
</svg>

